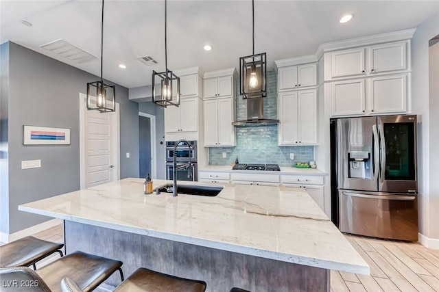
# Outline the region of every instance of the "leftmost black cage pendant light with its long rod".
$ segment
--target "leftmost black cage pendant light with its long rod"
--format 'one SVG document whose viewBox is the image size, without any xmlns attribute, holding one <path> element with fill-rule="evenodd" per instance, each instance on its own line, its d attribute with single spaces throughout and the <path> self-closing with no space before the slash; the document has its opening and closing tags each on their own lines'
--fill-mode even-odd
<svg viewBox="0 0 439 292">
<path fill-rule="evenodd" d="M 101 22 L 101 80 L 87 83 L 87 109 L 97 109 L 105 113 L 116 110 L 116 87 L 107 85 L 102 77 L 104 52 L 104 0 L 102 0 Z"/>
</svg>

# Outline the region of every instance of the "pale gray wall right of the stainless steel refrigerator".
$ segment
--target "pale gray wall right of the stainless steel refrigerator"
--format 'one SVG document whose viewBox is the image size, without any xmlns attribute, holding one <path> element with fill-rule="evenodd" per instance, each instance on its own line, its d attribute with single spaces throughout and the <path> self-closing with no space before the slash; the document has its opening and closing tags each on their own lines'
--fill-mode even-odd
<svg viewBox="0 0 439 292">
<path fill-rule="evenodd" d="M 420 115 L 422 122 L 418 127 L 418 180 L 419 180 L 419 228 L 420 233 L 430 239 L 439 239 L 438 196 L 439 184 L 430 167 L 437 168 L 438 157 L 434 156 L 439 142 L 434 130 L 439 127 L 431 116 L 437 115 L 437 103 L 429 104 L 429 40 L 439 34 L 439 12 L 420 24 L 412 40 L 412 108 Z"/>
</svg>

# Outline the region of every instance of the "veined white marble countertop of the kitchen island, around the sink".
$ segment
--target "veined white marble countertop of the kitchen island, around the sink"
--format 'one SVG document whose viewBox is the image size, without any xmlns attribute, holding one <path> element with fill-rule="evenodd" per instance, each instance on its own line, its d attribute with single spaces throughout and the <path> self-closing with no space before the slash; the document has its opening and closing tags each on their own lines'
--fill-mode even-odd
<svg viewBox="0 0 439 292">
<path fill-rule="evenodd" d="M 144 195 L 143 182 L 125 178 L 23 204 L 19 210 L 300 265 L 370 273 L 302 189 L 224 185 L 215 197 L 172 197 Z M 154 187 L 169 182 L 154 180 Z"/>
</svg>

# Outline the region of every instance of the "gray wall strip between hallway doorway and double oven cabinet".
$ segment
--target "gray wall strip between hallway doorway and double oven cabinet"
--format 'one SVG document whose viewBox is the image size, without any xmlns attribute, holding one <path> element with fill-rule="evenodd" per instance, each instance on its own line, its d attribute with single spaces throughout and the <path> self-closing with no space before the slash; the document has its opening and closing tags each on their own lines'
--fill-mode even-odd
<svg viewBox="0 0 439 292">
<path fill-rule="evenodd" d="M 139 103 L 139 111 L 156 116 L 156 163 L 158 179 L 166 178 L 165 167 L 165 110 L 151 101 Z"/>
</svg>

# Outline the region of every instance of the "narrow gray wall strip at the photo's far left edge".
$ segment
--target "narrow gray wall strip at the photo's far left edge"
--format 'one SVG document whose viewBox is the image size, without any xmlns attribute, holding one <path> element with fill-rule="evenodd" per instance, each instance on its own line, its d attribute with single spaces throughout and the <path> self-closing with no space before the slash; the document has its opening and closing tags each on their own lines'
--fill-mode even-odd
<svg viewBox="0 0 439 292">
<path fill-rule="evenodd" d="M 9 43 L 0 44 L 0 232 L 9 233 L 8 90 Z"/>
</svg>

